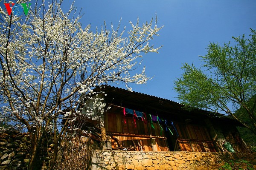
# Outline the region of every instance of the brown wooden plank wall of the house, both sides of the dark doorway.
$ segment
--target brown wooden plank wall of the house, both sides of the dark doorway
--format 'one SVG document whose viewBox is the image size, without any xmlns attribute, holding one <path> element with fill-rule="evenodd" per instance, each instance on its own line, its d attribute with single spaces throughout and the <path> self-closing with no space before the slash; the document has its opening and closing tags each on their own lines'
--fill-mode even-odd
<svg viewBox="0 0 256 170">
<path fill-rule="evenodd" d="M 125 147 L 133 146 L 132 141 L 134 140 L 134 143 L 137 144 L 137 140 L 139 140 L 143 151 L 169 150 L 165 130 L 161 134 L 161 128 L 157 122 L 153 122 L 154 128 L 152 128 L 149 122 L 145 124 L 141 119 L 136 119 L 136 127 L 132 116 L 124 117 L 122 113 L 109 112 L 104 117 L 107 133 L 114 133 L 114 136 L 122 141 Z M 175 151 L 216 152 L 206 127 L 177 122 L 175 127 L 179 134 Z M 154 140 L 150 138 L 150 135 Z M 154 149 L 152 149 L 152 141 Z M 115 147 L 114 141 L 112 147 Z M 140 150 L 139 147 L 137 147 L 137 150 Z"/>
</svg>

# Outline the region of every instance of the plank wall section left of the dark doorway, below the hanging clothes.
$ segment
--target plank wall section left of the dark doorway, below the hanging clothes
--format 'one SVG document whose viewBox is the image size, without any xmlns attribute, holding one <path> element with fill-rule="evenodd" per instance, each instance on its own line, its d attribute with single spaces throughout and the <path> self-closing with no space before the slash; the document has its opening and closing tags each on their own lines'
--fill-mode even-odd
<svg viewBox="0 0 256 170">
<path fill-rule="evenodd" d="M 125 123 L 126 121 L 126 123 Z M 157 122 L 154 122 L 154 128 L 149 122 L 144 123 L 141 119 L 136 119 L 136 125 L 132 116 L 123 116 L 122 113 L 108 112 L 104 115 L 106 132 L 115 136 L 123 143 L 125 147 L 137 145 L 137 140 L 142 145 L 143 151 L 169 151 L 168 142 L 166 141 L 165 132 L 162 131 Z M 150 138 L 150 135 L 152 138 Z M 141 137 L 145 136 L 145 137 Z M 112 140 L 112 147 L 116 147 L 116 141 Z M 153 147 L 152 148 L 152 143 Z M 137 150 L 140 150 L 137 147 Z"/>
</svg>

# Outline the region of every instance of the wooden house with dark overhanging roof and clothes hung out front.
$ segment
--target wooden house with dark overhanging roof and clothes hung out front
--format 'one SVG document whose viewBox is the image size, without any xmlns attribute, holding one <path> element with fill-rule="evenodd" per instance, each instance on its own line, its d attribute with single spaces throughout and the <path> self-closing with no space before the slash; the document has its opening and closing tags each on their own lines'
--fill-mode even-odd
<svg viewBox="0 0 256 170">
<path fill-rule="evenodd" d="M 102 139 L 113 150 L 244 152 L 239 122 L 223 114 L 194 109 L 156 96 L 108 85 L 104 91 L 110 106 L 102 117 Z M 101 93 L 101 92 L 100 92 Z"/>
</svg>

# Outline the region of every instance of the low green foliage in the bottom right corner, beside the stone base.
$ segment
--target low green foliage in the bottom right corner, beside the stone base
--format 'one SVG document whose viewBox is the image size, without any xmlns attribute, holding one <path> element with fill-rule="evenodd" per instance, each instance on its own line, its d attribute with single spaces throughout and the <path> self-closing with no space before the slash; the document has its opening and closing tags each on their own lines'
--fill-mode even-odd
<svg viewBox="0 0 256 170">
<path fill-rule="evenodd" d="M 254 170 L 253 164 L 246 160 L 231 160 L 226 162 L 219 170 Z"/>
</svg>

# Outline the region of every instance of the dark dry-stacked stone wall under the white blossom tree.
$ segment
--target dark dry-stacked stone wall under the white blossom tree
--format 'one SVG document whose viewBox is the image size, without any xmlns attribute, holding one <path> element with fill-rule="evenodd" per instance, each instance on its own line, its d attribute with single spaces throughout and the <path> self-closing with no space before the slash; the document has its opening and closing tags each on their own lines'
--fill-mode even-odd
<svg viewBox="0 0 256 170">
<path fill-rule="evenodd" d="M 30 158 L 29 133 L 0 134 L 0 169 L 26 170 Z"/>
</svg>

